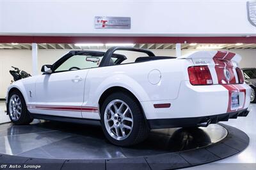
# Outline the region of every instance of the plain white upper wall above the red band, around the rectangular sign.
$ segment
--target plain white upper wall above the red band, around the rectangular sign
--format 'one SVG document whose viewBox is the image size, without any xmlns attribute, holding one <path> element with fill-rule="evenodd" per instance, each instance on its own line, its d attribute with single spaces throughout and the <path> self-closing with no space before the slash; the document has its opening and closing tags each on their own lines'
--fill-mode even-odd
<svg viewBox="0 0 256 170">
<path fill-rule="evenodd" d="M 131 17 L 131 29 L 95 29 L 95 16 Z M 246 0 L 1 0 L 0 34 L 256 35 Z"/>
</svg>

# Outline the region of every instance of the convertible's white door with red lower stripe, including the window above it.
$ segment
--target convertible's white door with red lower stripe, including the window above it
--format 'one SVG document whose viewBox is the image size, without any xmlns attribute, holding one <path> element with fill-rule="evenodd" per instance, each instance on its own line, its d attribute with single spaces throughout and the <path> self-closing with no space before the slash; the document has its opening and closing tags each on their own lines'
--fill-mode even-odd
<svg viewBox="0 0 256 170">
<path fill-rule="evenodd" d="M 81 118 L 84 101 L 84 83 L 88 68 L 92 67 L 86 55 L 68 56 L 54 65 L 53 73 L 36 80 L 36 99 L 33 113 Z M 71 68 L 71 69 L 70 69 Z"/>
</svg>

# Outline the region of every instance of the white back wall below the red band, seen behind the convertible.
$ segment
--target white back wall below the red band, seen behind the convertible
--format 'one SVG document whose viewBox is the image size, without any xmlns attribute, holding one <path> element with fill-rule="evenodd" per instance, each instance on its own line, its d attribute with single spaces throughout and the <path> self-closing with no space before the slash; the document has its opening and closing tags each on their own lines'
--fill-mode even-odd
<svg viewBox="0 0 256 170">
<path fill-rule="evenodd" d="M 182 50 L 182 55 L 193 51 Z M 38 73 L 42 65 L 54 63 L 67 52 L 68 50 L 38 50 Z M 152 52 L 156 55 L 175 56 L 175 50 L 152 50 Z M 230 52 L 239 53 L 243 57 L 241 67 L 256 67 L 256 50 L 230 50 Z M 0 98 L 6 96 L 6 88 L 12 80 L 9 73 L 11 66 L 19 67 L 28 73 L 32 72 L 31 53 L 31 50 L 0 50 Z M 124 54 L 134 60 L 133 53 L 125 52 Z"/>
</svg>

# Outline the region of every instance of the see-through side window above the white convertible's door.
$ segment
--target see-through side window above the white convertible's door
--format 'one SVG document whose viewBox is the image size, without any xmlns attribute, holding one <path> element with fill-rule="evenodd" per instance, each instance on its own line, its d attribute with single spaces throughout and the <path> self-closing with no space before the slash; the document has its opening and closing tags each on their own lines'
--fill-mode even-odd
<svg viewBox="0 0 256 170">
<path fill-rule="evenodd" d="M 90 61 L 86 60 L 87 57 L 92 57 L 90 55 L 73 55 L 69 59 L 65 60 L 57 69 L 56 72 L 59 71 L 69 71 L 72 67 L 78 67 L 79 69 L 88 69 L 92 67 L 99 67 L 100 60 L 102 57 L 96 57 L 99 61 Z M 72 69 L 76 70 L 76 68 Z"/>
</svg>

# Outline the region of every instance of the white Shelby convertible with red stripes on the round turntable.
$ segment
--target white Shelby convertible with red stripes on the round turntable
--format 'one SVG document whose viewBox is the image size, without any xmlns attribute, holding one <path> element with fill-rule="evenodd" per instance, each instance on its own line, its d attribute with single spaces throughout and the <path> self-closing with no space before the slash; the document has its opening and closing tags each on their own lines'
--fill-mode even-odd
<svg viewBox="0 0 256 170">
<path fill-rule="evenodd" d="M 117 50 L 144 57 L 127 63 Z M 8 115 L 18 125 L 33 118 L 101 124 L 111 143 L 134 145 L 150 129 L 205 127 L 246 117 L 251 88 L 240 60 L 236 53 L 220 51 L 177 58 L 125 47 L 71 51 L 43 66 L 42 75 L 8 87 Z"/>
</svg>

